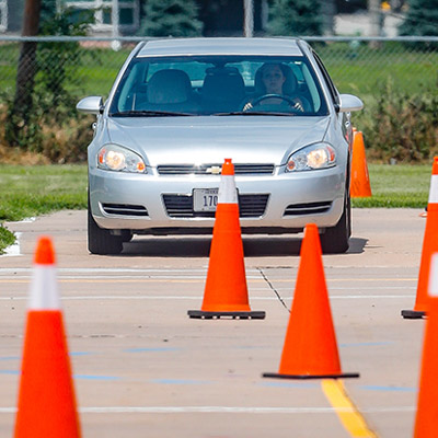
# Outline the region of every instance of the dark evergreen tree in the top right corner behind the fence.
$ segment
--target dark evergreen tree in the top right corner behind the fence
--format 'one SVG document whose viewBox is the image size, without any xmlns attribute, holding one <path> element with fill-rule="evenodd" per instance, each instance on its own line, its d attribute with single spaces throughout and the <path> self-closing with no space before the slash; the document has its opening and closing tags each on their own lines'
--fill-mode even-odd
<svg viewBox="0 0 438 438">
<path fill-rule="evenodd" d="M 410 0 L 400 35 L 438 36 L 438 0 Z"/>
</svg>

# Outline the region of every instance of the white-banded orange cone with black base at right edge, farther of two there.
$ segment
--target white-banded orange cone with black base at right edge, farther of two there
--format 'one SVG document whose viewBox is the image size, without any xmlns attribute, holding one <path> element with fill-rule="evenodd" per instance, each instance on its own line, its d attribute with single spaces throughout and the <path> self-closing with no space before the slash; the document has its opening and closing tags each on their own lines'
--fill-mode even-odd
<svg viewBox="0 0 438 438">
<path fill-rule="evenodd" d="M 438 251 L 438 157 L 431 168 L 429 200 L 427 204 L 426 228 L 423 238 L 422 261 L 419 264 L 417 295 L 414 310 L 402 310 L 404 319 L 420 319 L 427 311 L 427 285 L 431 254 Z"/>
</svg>

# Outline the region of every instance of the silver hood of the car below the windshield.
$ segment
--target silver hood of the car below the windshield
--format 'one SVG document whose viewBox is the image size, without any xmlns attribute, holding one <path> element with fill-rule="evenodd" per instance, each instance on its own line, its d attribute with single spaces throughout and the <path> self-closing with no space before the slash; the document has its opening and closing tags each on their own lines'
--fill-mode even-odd
<svg viewBox="0 0 438 438">
<path fill-rule="evenodd" d="M 112 142 L 159 164 L 284 164 L 297 149 L 324 139 L 330 116 L 201 116 L 108 118 Z"/>
</svg>

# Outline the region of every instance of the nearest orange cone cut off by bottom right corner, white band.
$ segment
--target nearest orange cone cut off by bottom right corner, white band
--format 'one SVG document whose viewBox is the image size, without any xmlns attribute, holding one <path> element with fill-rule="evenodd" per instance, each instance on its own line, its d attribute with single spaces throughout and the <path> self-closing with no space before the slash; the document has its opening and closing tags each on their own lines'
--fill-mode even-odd
<svg viewBox="0 0 438 438">
<path fill-rule="evenodd" d="M 438 253 L 435 253 L 430 261 L 428 298 L 415 438 L 436 438 L 438 430 Z"/>
</svg>

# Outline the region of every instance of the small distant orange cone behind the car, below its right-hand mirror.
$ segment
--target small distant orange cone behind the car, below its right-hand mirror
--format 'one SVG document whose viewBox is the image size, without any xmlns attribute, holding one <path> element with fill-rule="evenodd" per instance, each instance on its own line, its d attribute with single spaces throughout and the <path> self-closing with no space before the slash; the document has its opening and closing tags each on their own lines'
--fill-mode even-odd
<svg viewBox="0 0 438 438">
<path fill-rule="evenodd" d="M 351 186 L 349 193 L 351 198 L 371 196 L 364 136 L 360 130 L 353 132 Z"/>
</svg>

